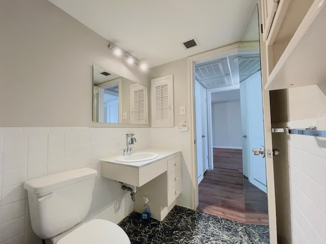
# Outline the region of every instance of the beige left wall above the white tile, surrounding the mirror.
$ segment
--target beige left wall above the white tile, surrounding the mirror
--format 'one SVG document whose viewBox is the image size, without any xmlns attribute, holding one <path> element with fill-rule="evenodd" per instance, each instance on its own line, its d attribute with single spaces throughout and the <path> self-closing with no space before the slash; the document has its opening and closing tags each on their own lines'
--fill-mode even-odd
<svg viewBox="0 0 326 244">
<path fill-rule="evenodd" d="M 0 2 L 0 126 L 92 122 L 92 65 L 148 85 L 107 41 L 45 0 Z"/>
</svg>

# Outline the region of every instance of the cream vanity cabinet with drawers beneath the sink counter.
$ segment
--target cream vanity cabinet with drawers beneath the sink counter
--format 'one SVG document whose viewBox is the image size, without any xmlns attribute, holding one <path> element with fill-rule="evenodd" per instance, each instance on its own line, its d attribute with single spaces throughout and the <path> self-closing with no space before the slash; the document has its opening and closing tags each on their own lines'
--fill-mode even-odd
<svg viewBox="0 0 326 244">
<path fill-rule="evenodd" d="M 175 206 L 176 198 L 182 192 L 181 155 L 176 154 L 166 159 L 167 171 L 137 188 L 134 210 L 142 212 L 143 197 L 149 199 L 152 218 L 162 221 Z"/>
</svg>

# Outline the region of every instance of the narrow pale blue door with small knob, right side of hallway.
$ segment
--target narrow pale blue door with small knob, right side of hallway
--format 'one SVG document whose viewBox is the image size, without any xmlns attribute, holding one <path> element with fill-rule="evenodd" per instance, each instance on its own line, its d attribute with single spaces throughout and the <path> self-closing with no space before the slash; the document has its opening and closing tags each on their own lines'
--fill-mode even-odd
<svg viewBox="0 0 326 244">
<path fill-rule="evenodd" d="M 250 178 L 250 141 L 249 141 L 249 126 L 247 113 L 247 83 L 240 83 L 240 107 L 241 107 L 241 130 L 242 130 L 242 170 L 243 175 Z"/>
</svg>

